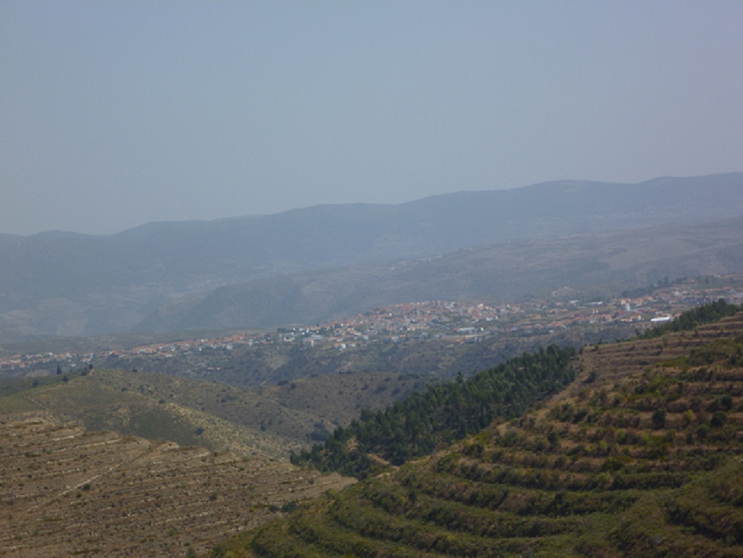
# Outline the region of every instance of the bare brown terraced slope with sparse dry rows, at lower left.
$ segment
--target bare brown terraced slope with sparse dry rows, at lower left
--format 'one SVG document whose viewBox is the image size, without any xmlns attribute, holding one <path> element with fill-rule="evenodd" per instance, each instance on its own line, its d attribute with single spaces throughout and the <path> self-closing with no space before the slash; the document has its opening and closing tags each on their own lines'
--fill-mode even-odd
<svg viewBox="0 0 743 558">
<path fill-rule="evenodd" d="M 350 482 L 45 418 L 0 421 L 0 556 L 184 557 Z"/>
</svg>

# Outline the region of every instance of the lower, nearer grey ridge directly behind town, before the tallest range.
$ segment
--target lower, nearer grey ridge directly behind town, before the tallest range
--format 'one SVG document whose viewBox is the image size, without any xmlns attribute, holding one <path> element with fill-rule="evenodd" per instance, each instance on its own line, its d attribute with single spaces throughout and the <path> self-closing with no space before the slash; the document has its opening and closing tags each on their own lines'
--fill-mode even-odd
<svg viewBox="0 0 743 558">
<path fill-rule="evenodd" d="M 443 256 L 345 267 L 217 288 L 164 306 L 140 331 L 199 326 L 275 327 L 343 319 L 390 303 L 519 299 L 569 288 L 603 296 L 705 273 L 733 273 L 743 262 L 743 218 L 693 226 L 504 242 Z"/>
</svg>

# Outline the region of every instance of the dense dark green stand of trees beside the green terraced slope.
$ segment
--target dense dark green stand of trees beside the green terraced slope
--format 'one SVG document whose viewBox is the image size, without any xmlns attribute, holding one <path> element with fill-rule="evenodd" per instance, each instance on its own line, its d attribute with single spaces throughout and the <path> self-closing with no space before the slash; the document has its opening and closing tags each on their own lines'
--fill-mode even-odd
<svg viewBox="0 0 743 558">
<path fill-rule="evenodd" d="M 349 426 L 335 429 L 324 444 L 293 454 L 291 461 L 364 478 L 384 461 L 399 465 L 427 455 L 496 418 L 522 415 L 536 400 L 559 392 L 575 378 L 575 354 L 572 347 L 550 345 L 468 379 L 459 374 L 385 410 L 364 410 Z"/>
</svg>

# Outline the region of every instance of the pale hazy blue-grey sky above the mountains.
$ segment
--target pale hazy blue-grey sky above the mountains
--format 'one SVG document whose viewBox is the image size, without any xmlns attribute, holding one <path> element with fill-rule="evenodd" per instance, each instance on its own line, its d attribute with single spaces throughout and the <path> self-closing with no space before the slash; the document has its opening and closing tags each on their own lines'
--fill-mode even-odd
<svg viewBox="0 0 743 558">
<path fill-rule="evenodd" d="M 0 1 L 0 233 L 743 170 L 743 1 Z"/>
</svg>

